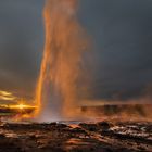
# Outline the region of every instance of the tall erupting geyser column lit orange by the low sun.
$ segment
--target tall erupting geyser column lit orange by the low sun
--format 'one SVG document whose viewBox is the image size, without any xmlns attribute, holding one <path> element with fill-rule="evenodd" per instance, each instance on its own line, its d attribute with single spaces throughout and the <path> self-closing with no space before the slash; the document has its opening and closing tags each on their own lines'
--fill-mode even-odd
<svg viewBox="0 0 152 152">
<path fill-rule="evenodd" d="M 86 36 L 77 20 L 78 0 L 46 0 L 46 45 L 36 101 L 40 121 L 74 118 Z"/>
</svg>

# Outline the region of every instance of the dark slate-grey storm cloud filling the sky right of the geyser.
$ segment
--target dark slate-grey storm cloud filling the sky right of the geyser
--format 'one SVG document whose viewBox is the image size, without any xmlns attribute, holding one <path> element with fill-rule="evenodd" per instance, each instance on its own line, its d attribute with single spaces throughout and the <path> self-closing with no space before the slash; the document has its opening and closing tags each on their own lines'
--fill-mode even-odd
<svg viewBox="0 0 152 152">
<path fill-rule="evenodd" d="M 93 97 L 126 99 L 142 94 L 152 83 L 152 1 L 81 3 L 81 23 L 94 39 Z"/>
</svg>

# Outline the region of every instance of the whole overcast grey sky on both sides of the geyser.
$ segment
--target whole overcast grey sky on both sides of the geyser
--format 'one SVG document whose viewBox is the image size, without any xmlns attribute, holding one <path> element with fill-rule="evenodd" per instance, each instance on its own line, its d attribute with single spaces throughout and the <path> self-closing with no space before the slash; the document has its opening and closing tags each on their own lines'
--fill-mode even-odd
<svg viewBox="0 0 152 152">
<path fill-rule="evenodd" d="M 143 94 L 152 84 L 152 1 L 79 0 L 92 38 L 96 99 Z M 0 90 L 33 97 L 43 50 L 43 0 L 0 0 Z"/>
</svg>

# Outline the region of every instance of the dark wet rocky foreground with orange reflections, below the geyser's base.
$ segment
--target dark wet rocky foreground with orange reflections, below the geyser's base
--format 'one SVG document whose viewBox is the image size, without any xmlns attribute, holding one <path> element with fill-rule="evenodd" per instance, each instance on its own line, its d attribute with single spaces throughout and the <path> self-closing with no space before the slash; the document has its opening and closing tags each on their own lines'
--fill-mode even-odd
<svg viewBox="0 0 152 152">
<path fill-rule="evenodd" d="M 152 152 L 152 123 L 1 123 L 0 152 L 51 151 Z"/>
</svg>

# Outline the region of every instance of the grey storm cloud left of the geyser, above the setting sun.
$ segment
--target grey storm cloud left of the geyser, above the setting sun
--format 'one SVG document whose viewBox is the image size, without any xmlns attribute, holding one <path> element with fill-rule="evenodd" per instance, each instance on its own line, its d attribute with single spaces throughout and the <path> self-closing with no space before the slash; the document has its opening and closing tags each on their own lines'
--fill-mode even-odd
<svg viewBox="0 0 152 152">
<path fill-rule="evenodd" d="M 21 96 L 34 90 L 42 50 L 42 1 L 0 1 L 0 88 Z"/>
</svg>

